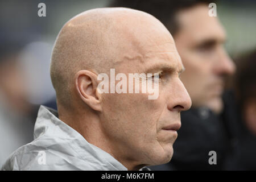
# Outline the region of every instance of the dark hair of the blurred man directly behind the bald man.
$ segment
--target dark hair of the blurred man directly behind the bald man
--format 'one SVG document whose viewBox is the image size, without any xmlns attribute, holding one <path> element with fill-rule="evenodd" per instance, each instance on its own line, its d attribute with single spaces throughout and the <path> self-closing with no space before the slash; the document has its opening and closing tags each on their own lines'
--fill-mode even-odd
<svg viewBox="0 0 256 182">
<path fill-rule="evenodd" d="M 149 13 L 159 19 L 174 36 L 179 29 L 176 14 L 180 10 L 203 4 L 209 4 L 209 0 L 114 0 L 109 7 L 128 7 Z"/>
</svg>

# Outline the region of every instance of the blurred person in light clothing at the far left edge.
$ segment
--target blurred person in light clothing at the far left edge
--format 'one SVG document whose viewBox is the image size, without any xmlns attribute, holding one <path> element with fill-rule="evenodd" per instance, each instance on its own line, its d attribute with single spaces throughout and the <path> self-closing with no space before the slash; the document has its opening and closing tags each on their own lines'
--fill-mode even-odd
<svg viewBox="0 0 256 182">
<path fill-rule="evenodd" d="M 26 40 L 0 34 L 0 166 L 18 147 L 33 140 L 38 107 L 27 99 L 28 87 L 18 60 Z"/>
</svg>

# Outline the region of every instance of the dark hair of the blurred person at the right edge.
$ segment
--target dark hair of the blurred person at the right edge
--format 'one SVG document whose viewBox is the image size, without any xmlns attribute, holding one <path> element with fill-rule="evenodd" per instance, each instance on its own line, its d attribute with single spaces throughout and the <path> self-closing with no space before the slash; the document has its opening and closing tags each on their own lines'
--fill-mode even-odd
<svg viewBox="0 0 256 182">
<path fill-rule="evenodd" d="M 235 61 L 237 72 L 234 87 L 238 102 L 243 107 L 246 101 L 256 99 L 256 49 Z"/>
</svg>

